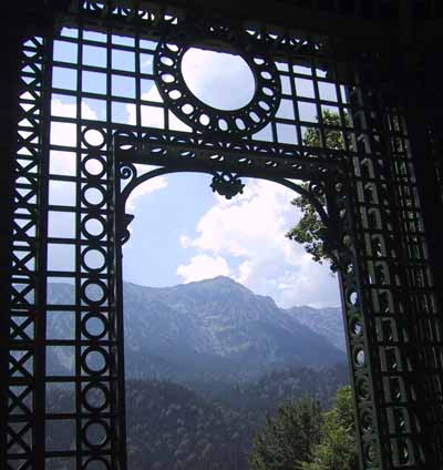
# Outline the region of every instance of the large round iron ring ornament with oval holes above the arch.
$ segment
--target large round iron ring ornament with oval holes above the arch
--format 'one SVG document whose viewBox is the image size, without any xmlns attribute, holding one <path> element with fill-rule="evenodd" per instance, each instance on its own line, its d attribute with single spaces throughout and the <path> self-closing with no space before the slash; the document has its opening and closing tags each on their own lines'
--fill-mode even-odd
<svg viewBox="0 0 443 470">
<path fill-rule="evenodd" d="M 216 43 L 219 49 L 223 48 L 222 52 L 236 53 L 249 65 L 255 76 L 256 90 L 248 104 L 234 111 L 218 110 L 200 101 L 189 90 L 182 73 L 182 61 L 190 48 L 205 43 Z M 158 43 L 154 57 L 158 91 L 171 110 L 196 131 L 238 136 L 258 132 L 277 112 L 281 85 L 274 61 L 255 49 L 246 33 L 233 32 L 226 28 L 198 31 L 190 41 L 185 35 L 179 35 L 177 40 L 168 38 Z"/>
</svg>

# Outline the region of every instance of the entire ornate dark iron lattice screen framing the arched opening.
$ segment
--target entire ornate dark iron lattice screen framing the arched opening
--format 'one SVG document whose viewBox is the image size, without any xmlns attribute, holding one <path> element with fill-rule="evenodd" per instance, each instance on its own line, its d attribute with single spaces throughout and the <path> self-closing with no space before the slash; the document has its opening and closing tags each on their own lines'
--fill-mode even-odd
<svg viewBox="0 0 443 470">
<path fill-rule="evenodd" d="M 401 98 L 344 68 L 332 38 L 93 1 L 61 21 L 60 34 L 23 44 L 2 466 L 126 468 L 124 201 L 141 181 L 192 170 L 227 196 L 241 176 L 299 192 L 291 180 L 310 182 L 341 268 L 361 466 L 437 468 L 442 329 Z M 196 99 L 181 72 L 190 47 L 240 54 L 251 101 L 224 112 Z M 305 144 L 309 130 L 319 147 Z M 51 296 L 53 280 L 69 303 Z M 56 318 L 70 334 L 51 337 Z M 56 387 L 71 403 L 48 399 Z M 59 430 L 72 439 L 50 439 Z"/>
</svg>

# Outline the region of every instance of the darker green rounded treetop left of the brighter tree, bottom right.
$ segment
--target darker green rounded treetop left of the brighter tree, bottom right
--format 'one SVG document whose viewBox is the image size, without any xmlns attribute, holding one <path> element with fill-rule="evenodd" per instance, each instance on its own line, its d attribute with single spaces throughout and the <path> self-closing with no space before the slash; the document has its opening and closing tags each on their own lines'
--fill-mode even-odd
<svg viewBox="0 0 443 470">
<path fill-rule="evenodd" d="M 267 418 L 265 430 L 256 436 L 249 457 L 250 470 L 296 470 L 320 442 L 321 406 L 302 399 L 288 401 L 275 418 Z"/>
</svg>

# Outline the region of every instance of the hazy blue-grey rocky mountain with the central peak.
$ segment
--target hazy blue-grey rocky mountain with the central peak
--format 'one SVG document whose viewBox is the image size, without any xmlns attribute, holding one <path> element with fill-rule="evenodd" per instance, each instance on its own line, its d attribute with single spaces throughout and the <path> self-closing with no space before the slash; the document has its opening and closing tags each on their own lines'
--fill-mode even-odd
<svg viewBox="0 0 443 470">
<path fill-rule="evenodd" d="M 51 284 L 51 303 L 66 304 L 72 286 Z M 49 319 L 49 335 L 68 338 L 69 315 Z M 322 368 L 344 355 L 303 325 L 292 310 L 227 277 L 174 287 L 124 283 L 126 375 L 178 381 L 248 380 L 293 365 Z M 71 331 L 71 333 L 70 333 Z M 58 348 L 50 366 L 68 371 L 72 358 Z"/>
</svg>

